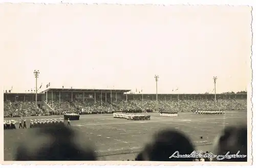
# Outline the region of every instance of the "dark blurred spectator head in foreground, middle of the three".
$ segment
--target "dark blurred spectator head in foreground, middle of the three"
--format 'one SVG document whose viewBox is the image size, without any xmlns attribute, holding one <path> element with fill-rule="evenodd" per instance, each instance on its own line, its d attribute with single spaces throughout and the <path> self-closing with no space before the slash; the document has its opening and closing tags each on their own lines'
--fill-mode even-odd
<svg viewBox="0 0 256 168">
<path fill-rule="evenodd" d="M 142 152 L 142 159 L 149 161 L 193 161 L 194 158 L 169 158 L 177 151 L 179 155 L 189 155 L 194 151 L 194 147 L 183 133 L 177 130 L 163 130 L 156 133 L 153 142 L 145 147 Z"/>
</svg>

